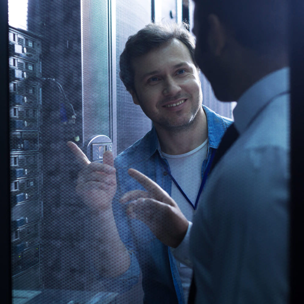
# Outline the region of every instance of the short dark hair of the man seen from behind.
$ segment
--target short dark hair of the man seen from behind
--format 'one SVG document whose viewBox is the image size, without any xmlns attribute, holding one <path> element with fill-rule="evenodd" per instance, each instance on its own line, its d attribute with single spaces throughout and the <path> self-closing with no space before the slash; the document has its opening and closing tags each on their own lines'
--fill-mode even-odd
<svg viewBox="0 0 304 304">
<path fill-rule="evenodd" d="M 244 47 L 259 50 L 287 45 L 288 0 L 194 0 L 194 2 L 201 28 L 208 26 L 207 16 L 213 13 L 233 31 L 236 40 Z"/>
</svg>

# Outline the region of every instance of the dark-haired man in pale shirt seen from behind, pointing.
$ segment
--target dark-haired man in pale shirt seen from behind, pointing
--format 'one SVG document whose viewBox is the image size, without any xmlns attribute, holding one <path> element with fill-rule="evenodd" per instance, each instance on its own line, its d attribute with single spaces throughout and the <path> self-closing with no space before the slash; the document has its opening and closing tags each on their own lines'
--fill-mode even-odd
<svg viewBox="0 0 304 304">
<path fill-rule="evenodd" d="M 285 0 L 195 0 L 195 60 L 216 97 L 237 106 L 193 220 L 189 303 L 288 302 L 287 16 Z M 145 175 L 129 174 L 147 204 L 176 204 Z M 128 206 L 134 217 L 140 200 Z M 154 229 L 164 244 L 176 237 Z"/>
</svg>

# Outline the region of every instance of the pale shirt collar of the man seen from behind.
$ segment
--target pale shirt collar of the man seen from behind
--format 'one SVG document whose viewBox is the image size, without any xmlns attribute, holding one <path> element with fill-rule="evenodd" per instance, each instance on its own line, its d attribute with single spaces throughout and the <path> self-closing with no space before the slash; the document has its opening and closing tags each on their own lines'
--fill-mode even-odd
<svg viewBox="0 0 304 304">
<path fill-rule="evenodd" d="M 267 102 L 279 94 L 288 92 L 288 90 L 288 67 L 272 72 L 252 85 L 241 95 L 233 110 L 234 125 L 237 131 L 240 134 L 243 133 Z"/>
</svg>

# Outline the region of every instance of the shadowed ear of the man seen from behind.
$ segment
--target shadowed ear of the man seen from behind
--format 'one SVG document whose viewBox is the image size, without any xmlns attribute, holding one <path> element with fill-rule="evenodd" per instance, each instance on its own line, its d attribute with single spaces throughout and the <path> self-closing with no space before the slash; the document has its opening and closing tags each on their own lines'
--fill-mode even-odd
<svg viewBox="0 0 304 304">
<path fill-rule="evenodd" d="M 208 45 L 209 50 L 214 56 L 220 56 L 226 44 L 226 32 L 223 24 L 219 21 L 219 17 L 215 14 L 208 16 Z"/>
</svg>

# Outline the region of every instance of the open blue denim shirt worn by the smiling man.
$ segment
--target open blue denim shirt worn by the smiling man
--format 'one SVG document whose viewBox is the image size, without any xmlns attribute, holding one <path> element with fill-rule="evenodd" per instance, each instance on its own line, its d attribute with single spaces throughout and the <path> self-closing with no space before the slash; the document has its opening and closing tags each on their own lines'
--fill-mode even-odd
<svg viewBox="0 0 304 304">
<path fill-rule="evenodd" d="M 203 109 L 207 117 L 209 146 L 207 158 L 202 163 L 202 177 L 212 151 L 218 148 L 223 134 L 232 123 L 231 119 L 218 115 L 204 105 Z M 134 285 L 134 277 L 136 275 L 139 277 L 138 267 L 140 267 L 145 303 L 184 303 L 178 268 L 168 246 L 162 244 L 144 223 L 129 219 L 126 216 L 126 205 L 119 203 L 120 197 L 125 192 L 145 190 L 129 176 L 127 172 L 129 168 L 147 175 L 171 195 L 171 178 L 161 163 L 157 146 L 158 138 L 153 126 L 145 136 L 114 160 L 117 192 L 112 204 L 113 212 L 119 235 L 131 257 L 129 270 L 118 279 L 119 282 L 125 282 L 123 290 L 131 288 Z"/>
</svg>

